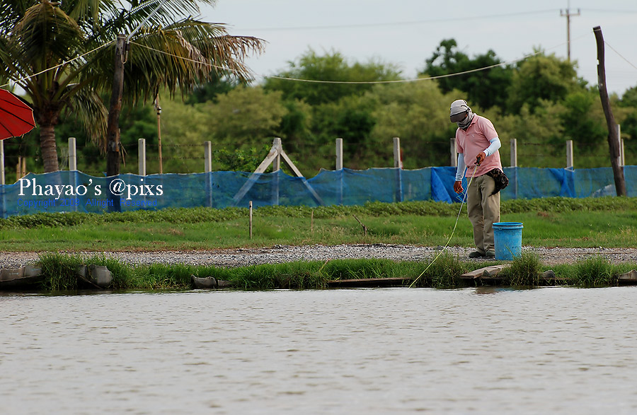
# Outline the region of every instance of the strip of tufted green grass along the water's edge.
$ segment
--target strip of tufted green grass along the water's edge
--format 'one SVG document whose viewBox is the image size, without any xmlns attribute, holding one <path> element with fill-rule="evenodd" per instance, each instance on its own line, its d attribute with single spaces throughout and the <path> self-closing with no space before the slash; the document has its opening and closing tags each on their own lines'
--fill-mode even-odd
<svg viewBox="0 0 637 415">
<path fill-rule="evenodd" d="M 190 276 L 214 276 L 231 281 L 236 289 L 319 289 L 329 281 L 345 279 L 406 278 L 404 285 L 432 288 L 460 288 L 476 286 L 478 280 L 461 279 L 461 274 L 489 263 L 462 262 L 449 253 L 440 255 L 427 269 L 433 258 L 423 262 L 394 262 L 389 259 L 348 259 L 328 262 L 289 262 L 251 267 L 220 268 L 188 264 L 152 264 L 132 266 L 103 256 L 45 254 L 40 257 L 45 291 L 75 290 L 75 272 L 81 264 L 105 265 L 113 273 L 113 290 L 189 289 Z M 490 264 L 496 264 L 493 262 Z M 552 284 L 597 287 L 616 286 L 618 275 L 636 268 L 637 264 L 612 264 L 602 257 L 590 257 L 573 265 L 552 267 L 556 281 Z M 426 270 L 425 270 L 426 269 Z M 544 285 L 539 274 L 548 268 L 532 253 L 523 253 L 511 267 L 501 271 L 502 286 L 529 287 Z M 414 282 L 415 281 L 415 282 Z"/>
</svg>

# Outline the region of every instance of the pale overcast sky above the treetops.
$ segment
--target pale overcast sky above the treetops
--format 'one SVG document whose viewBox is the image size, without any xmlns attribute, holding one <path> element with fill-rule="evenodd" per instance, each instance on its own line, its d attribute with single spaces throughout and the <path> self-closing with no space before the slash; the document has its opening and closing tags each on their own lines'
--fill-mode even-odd
<svg viewBox="0 0 637 415">
<path fill-rule="evenodd" d="M 217 0 L 200 18 L 267 42 L 263 54 L 246 60 L 256 81 L 289 69 L 310 49 L 319 56 L 339 52 L 350 64 L 395 64 L 413 79 L 450 38 L 469 57 L 492 49 L 512 62 L 541 48 L 566 58 L 567 10 L 578 76 L 597 85 L 593 28 L 600 26 L 609 93 L 637 86 L 636 0 Z"/>
</svg>

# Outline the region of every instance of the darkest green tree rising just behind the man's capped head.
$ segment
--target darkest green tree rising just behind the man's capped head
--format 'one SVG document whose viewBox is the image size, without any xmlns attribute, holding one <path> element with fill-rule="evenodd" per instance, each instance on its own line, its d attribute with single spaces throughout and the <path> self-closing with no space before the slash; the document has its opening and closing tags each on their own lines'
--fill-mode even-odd
<svg viewBox="0 0 637 415">
<path fill-rule="evenodd" d="M 482 108 L 498 106 L 504 110 L 507 99 L 505 91 L 511 84 L 513 71 L 511 66 L 500 66 L 501 62 L 491 49 L 471 59 L 458 50 L 454 39 L 446 39 L 425 61 L 425 70 L 420 75 L 443 76 L 436 79 L 440 90 L 443 93 L 460 90 L 466 94 L 465 99 L 470 105 Z M 483 70 L 474 71 L 476 69 Z M 467 71 L 471 72 L 463 74 Z M 459 75 L 445 76 L 451 74 Z"/>
</svg>

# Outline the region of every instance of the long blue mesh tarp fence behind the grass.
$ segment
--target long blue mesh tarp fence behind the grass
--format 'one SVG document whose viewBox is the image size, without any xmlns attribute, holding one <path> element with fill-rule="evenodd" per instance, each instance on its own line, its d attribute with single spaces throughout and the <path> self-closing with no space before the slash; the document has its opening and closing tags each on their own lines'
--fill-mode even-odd
<svg viewBox="0 0 637 415">
<path fill-rule="evenodd" d="M 602 197 L 616 194 L 612 168 L 505 168 L 509 186 L 502 199 Z M 460 202 L 453 190 L 455 168 L 321 170 L 306 179 L 276 173 L 212 172 L 93 177 L 79 171 L 29 173 L 0 186 L 4 218 L 38 212 L 132 211 L 208 206 L 360 205 L 367 201 Z M 637 196 L 637 166 L 625 166 L 626 191 Z M 464 182 L 466 188 L 466 180 Z"/>
</svg>

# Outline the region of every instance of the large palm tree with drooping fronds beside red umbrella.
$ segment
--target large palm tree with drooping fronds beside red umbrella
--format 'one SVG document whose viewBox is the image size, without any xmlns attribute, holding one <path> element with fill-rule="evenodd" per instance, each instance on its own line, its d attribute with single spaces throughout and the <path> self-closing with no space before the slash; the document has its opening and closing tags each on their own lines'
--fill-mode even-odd
<svg viewBox="0 0 637 415">
<path fill-rule="evenodd" d="M 217 71 L 251 78 L 243 60 L 265 42 L 190 17 L 199 13 L 196 0 L 0 0 L 0 79 L 12 79 L 33 105 L 45 172 L 58 170 L 55 126 L 63 111 L 105 150 L 108 111 L 99 93 L 113 85 L 117 35 L 132 34 L 123 98 L 133 105 L 159 88 L 191 90 Z"/>
</svg>

